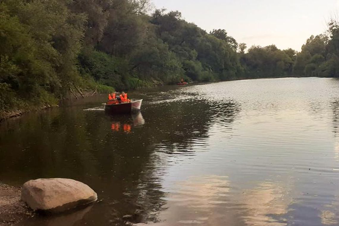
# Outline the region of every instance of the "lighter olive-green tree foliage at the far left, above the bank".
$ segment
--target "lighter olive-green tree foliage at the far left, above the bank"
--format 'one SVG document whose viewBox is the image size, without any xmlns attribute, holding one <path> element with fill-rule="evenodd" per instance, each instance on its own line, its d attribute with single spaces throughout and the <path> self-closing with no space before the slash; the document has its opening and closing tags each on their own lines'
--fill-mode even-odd
<svg viewBox="0 0 339 226">
<path fill-rule="evenodd" d="M 67 1 L 8 0 L 0 3 L 0 20 L 0 83 L 20 99 L 53 104 L 77 79 L 85 17 L 71 13 Z"/>
</svg>

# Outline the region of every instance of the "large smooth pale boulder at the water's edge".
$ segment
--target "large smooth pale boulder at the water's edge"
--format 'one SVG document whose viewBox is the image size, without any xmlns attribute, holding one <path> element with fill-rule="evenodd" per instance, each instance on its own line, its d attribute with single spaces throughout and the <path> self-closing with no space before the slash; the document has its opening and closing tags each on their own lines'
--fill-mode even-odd
<svg viewBox="0 0 339 226">
<path fill-rule="evenodd" d="M 30 180 L 21 189 L 21 199 L 33 210 L 61 212 L 95 202 L 97 193 L 72 179 Z"/>
</svg>

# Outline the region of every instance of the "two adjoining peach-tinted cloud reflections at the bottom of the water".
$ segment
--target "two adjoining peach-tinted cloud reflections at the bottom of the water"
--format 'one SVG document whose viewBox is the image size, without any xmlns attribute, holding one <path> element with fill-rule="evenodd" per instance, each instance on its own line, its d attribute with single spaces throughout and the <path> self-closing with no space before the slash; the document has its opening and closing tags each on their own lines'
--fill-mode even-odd
<svg viewBox="0 0 339 226">
<path fill-rule="evenodd" d="M 216 175 L 176 182 L 168 190 L 168 208 L 160 214 L 166 220 L 160 225 L 286 225 L 277 220 L 292 203 L 286 184 L 263 182 L 242 192 L 232 191 L 231 184 Z"/>
</svg>

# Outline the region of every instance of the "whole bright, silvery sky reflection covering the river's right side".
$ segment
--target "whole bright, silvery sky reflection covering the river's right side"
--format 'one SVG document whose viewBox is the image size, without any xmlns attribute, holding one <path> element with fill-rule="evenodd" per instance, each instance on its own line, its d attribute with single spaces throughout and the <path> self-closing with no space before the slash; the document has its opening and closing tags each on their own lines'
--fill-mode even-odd
<svg viewBox="0 0 339 226">
<path fill-rule="evenodd" d="M 160 218 L 171 224 L 165 225 L 338 224 L 333 200 L 339 191 L 339 150 L 331 108 L 338 84 L 304 81 L 187 88 L 225 106 L 212 109 L 219 113 L 210 121 L 207 139 L 190 147 L 194 155 L 167 156 L 171 164 L 162 185 L 169 192 L 168 209 Z M 225 114 L 232 110 L 233 115 Z"/>
</svg>

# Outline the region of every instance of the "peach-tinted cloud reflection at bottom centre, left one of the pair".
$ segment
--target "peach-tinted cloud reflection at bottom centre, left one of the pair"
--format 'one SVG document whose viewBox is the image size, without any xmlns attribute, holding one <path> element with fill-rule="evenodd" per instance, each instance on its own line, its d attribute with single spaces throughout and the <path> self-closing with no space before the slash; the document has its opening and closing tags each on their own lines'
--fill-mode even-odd
<svg viewBox="0 0 339 226">
<path fill-rule="evenodd" d="M 226 211 L 230 201 L 226 176 L 190 177 L 169 191 L 167 208 L 160 214 L 166 219 L 162 225 L 221 225 L 223 219 L 232 217 Z"/>
</svg>

